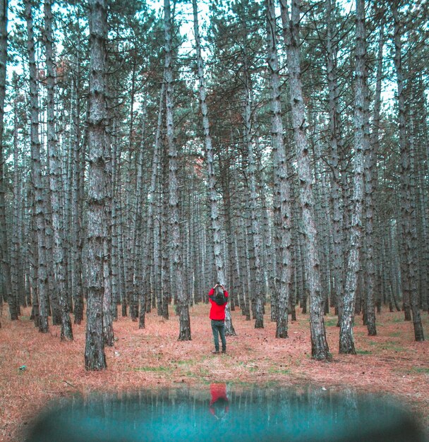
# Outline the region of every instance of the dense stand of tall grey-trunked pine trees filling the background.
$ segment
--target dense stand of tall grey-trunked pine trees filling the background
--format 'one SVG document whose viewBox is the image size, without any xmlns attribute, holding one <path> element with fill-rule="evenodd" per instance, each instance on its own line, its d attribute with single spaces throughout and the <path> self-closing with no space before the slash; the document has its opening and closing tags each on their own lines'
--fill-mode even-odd
<svg viewBox="0 0 429 442">
<path fill-rule="evenodd" d="M 316 361 L 329 312 L 339 354 L 382 310 L 425 339 L 428 2 L 5 0 L 0 20 L 1 322 L 85 322 L 100 371 L 119 317 L 191 340 L 219 282 L 226 335 L 239 311 L 288 338 L 299 309 Z"/>
</svg>

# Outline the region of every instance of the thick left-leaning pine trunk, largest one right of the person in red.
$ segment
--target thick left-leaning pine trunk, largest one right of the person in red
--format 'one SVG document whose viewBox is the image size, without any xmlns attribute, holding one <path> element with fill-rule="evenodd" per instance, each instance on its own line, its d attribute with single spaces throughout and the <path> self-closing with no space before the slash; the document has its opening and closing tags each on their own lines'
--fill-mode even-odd
<svg viewBox="0 0 429 442">
<path fill-rule="evenodd" d="M 318 232 L 315 227 L 314 197 L 308 141 L 306 138 L 306 115 L 301 85 L 301 66 L 299 49 L 299 20 L 301 0 L 292 0 L 291 18 L 286 0 L 280 0 L 284 43 L 286 44 L 287 66 L 289 68 L 289 87 L 292 108 L 292 124 L 298 180 L 300 184 L 301 212 L 306 235 L 308 282 L 310 289 L 310 335 L 313 359 L 331 358 L 326 340 L 323 318 L 323 298 L 320 283 L 320 262 L 318 256 Z"/>
</svg>

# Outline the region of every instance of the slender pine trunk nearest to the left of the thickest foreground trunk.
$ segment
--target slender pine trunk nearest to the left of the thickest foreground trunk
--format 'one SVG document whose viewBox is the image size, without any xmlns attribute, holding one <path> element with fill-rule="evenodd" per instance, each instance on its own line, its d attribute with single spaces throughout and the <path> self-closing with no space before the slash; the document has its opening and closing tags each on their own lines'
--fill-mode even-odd
<svg viewBox="0 0 429 442">
<path fill-rule="evenodd" d="M 56 140 L 55 72 L 52 37 L 52 0 L 44 1 L 44 47 L 47 68 L 47 149 L 49 153 L 49 187 L 52 206 L 52 234 L 54 239 L 55 287 L 61 316 L 61 340 L 73 340 L 66 292 L 66 268 L 64 262 L 61 201 L 63 199 L 58 142 Z"/>
</svg>

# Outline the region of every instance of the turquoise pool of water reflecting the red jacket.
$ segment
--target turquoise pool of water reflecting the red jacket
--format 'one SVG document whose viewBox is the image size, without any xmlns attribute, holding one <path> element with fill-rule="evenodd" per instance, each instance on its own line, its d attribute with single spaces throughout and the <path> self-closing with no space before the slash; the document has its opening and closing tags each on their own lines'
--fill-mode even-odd
<svg viewBox="0 0 429 442">
<path fill-rule="evenodd" d="M 44 412 L 27 442 L 427 442 L 386 398 L 315 387 L 143 390 L 71 398 Z"/>
</svg>

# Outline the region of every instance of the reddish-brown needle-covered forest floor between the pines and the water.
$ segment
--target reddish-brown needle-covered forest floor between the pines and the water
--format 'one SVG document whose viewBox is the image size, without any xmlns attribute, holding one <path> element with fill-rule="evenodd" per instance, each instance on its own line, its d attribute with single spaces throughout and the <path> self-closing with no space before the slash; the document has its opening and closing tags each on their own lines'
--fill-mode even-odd
<svg viewBox="0 0 429 442">
<path fill-rule="evenodd" d="M 369 337 L 356 318 L 357 354 L 339 355 L 339 328 L 325 317 L 332 362 L 311 359 L 308 316 L 289 321 L 289 338 L 275 338 L 275 323 L 265 316 L 265 328 L 255 329 L 241 311 L 231 312 L 237 335 L 227 338 L 226 354 L 211 354 L 209 306 L 191 307 L 192 340 L 179 342 L 179 319 L 156 312 L 146 316 L 146 328 L 130 318 L 114 323 L 115 345 L 106 348 L 107 370 L 88 372 L 84 366 L 85 324 L 74 325 L 73 342 L 61 342 L 59 326 L 41 334 L 23 309 L 19 321 L 0 316 L 0 441 L 20 441 L 23 431 L 47 403 L 68 395 L 121 393 L 142 388 L 192 386 L 213 382 L 232 386 L 305 386 L 341 392 L 387 393 L 409 408 L 429 429 L 429 341 L 415 342 L 412 322 L 401 312 L 383 310 L 377 316 L 377 336 Z M 429 338 L 428 313 L 422 313 Z"/>
</svg>

